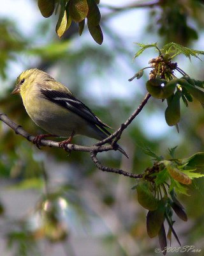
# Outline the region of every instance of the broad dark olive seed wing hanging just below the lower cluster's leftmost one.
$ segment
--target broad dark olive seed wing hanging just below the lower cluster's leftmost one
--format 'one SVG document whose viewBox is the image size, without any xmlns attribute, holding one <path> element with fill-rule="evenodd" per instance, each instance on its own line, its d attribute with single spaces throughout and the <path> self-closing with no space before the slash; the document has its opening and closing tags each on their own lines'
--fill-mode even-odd
<svg viewBox="0 0 204 256">
<path fill-rule="evenodd" d="M 166 202 L 160 200 L 157 209 L 147 213 L 147 234 L 150 238 L 159 234 L 159 230 L 164 222 L 165 205 Z"/>
</svg>

